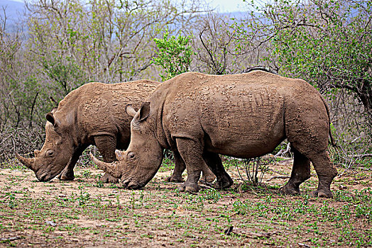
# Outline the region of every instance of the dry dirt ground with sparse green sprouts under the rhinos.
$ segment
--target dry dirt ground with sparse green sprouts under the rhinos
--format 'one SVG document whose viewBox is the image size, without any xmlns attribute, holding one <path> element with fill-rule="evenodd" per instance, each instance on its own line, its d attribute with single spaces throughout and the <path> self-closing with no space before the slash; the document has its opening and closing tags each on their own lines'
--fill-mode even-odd
<svg viewBox="0 0 372 248">
<path fill-rule="evenodd" d="M 262 186 L 225 162 L 234 186 L 197 194 L 165 183 L 171 167 L 137 191 L 100 183 L 94 167 L 44 183 L 0 169 L 0 247 L 372 247 L 371 169 L 337 177 L 333 199 L 310 196 L 314 171 L 300 196 L 282 196 L 291 162 L 270 164 Z"/>
</svg>

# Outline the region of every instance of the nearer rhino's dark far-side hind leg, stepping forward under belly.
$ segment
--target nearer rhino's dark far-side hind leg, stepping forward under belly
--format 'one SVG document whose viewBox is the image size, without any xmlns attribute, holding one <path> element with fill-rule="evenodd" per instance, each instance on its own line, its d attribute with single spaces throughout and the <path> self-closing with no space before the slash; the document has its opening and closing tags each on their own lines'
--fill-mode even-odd
<svg viewBox="0 0 372 248">
<path fill-rule="evenodd" d="M 290 180 L 287 182 L 287 184 L 285 184 L 285 186 L 279 188 L 279 192 L 285 195 L 300 194 L 300 184 L 307 179 L 310 179 L 310 159 L 305 157 L 293 147 L 292 151 L 295 155 L 295 158 L 293 160 Z"/>
</svg>

